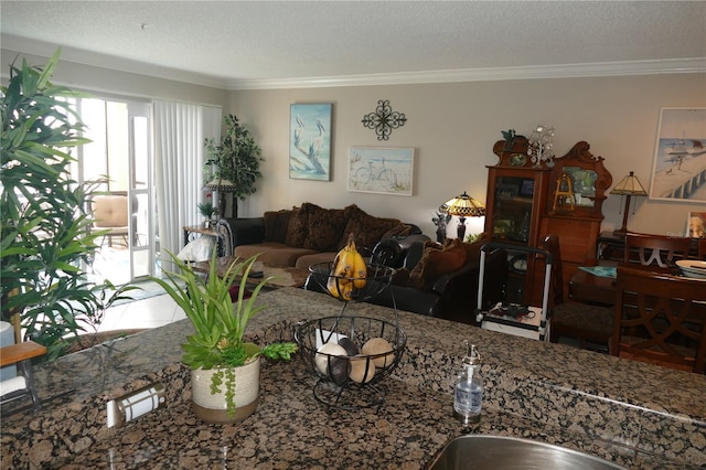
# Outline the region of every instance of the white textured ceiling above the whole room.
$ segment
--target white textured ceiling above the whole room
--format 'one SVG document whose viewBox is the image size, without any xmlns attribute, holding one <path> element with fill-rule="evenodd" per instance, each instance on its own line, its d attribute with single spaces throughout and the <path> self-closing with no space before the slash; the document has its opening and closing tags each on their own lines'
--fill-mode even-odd
<svg viewBox="0 0 706 470">
<path fill-rule="evenodd" d="M 3 49 L 61 45 L 68 61 L 225 87 L 686 58 L 706 68 L 704 1 L 2 0 L 0 15 Z"/>
</svg>

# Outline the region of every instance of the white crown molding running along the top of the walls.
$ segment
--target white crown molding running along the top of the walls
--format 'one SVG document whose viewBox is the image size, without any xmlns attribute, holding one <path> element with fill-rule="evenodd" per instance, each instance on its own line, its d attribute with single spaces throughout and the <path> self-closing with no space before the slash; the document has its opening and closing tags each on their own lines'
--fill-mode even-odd
<svg viewBox="0 0 706 470">
<path fill-rule="evenodd" d="M 56 44 L 2 34 L 2 49 L 9 52 L 50 57 Z M 365 75 L 340 75 L 281 79 L 228 79 L 162 67 L 127 58 L 62 46 L 62 62 L 72 62 L 113 71 L 183 82 L 225 90 L 322 88 L 372 85 L 411 85 L 459 82 L 491 82 L 536 78 L 577 78 L 623 75 L 706 73 L 706 57 L 668 58 L 660 61 L 605 62 L 591 64 L 558 64 L 522 67 L 461 68 L 447 71 L 400 72 Z M 3 62 L 7 62 L 3 60 Z"/>
</svg>

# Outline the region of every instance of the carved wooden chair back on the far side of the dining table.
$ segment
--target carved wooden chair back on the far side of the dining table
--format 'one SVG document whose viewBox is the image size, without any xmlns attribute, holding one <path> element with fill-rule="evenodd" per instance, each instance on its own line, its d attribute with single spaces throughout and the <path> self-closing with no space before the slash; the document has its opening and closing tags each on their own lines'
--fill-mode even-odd
<svg viewBox="0 0 706 470">
<path fill-rule="evenodd" d="M 691 238 L 628 233 L 623 264 L 639 263 L 666 268 L 678 259 L 688 258 L 691 248 Z"/>
</svg>

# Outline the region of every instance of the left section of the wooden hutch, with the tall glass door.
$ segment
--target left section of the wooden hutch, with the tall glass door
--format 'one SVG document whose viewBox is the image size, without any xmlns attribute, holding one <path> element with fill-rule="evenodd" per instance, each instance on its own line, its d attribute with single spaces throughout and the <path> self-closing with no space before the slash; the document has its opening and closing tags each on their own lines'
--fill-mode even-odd
<svg viewBox="0 0 706 470">
<path fill-rule="evenodd" d="M 532 163 L 527 154 L 527 139 L 522 136 L 510 142 L 495 142 L 493 152 L 500 160 L 498 164 L 488 167 L 485 232 L 493 242 L 517 247 L 538 246 L 552 170 Z M 510 275 L 505 300 L 541 305 L 535 302 L 533 292 L 542 291 L 543 277 L 527 275 L 536 269 L 534 260 L 527 259 L 520 250 L 510 249 L 509 256 Z"/>
</svg>

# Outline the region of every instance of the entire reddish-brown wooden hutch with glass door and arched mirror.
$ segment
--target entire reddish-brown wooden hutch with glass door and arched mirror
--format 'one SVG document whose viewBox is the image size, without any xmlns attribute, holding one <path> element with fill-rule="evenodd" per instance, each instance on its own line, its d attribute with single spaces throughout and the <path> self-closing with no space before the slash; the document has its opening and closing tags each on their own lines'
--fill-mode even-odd
<svg viewBox="0 0 706 470">
<path fill-rule="evenodd" d="M 587 142 L 565 156 L 534 162 L 523 136 L 499 140 L 499 162 L 488 167 L 485 232 L 493 242 L 539 247 L 548 234 L 559 236 L 564 292 L 579 266 L 595 264 L 601 212 L 612 177 L 602 157 L 593 157 Z M 541 305 L 544 264 L 509 250 L 506 301 Z M 532 275 L 527 275 L 532 274 Z"/>
</svg>

